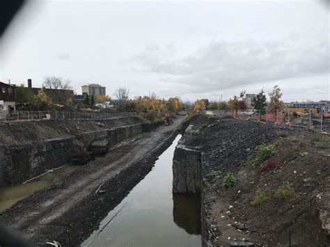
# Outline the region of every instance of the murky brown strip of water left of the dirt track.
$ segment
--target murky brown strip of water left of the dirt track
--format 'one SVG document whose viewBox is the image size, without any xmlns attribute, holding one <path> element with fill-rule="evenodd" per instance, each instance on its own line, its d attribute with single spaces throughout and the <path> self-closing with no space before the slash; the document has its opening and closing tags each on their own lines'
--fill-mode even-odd
<svg viewBox="0 0 330 247">
<path fill-rule="evenodd" d="M 58 181 L 67 177 L 79 166 L 65 166 L 61 169 L 54 170 L 53 173 L 47 173 L 38 179 L 28 182 L 26 184 L 19 184 L 15 186 L 0 187 L 0 212 L 8 209 L 13 204 L 31 196 L 36 191 L 46 189 Z"/>
</svg>

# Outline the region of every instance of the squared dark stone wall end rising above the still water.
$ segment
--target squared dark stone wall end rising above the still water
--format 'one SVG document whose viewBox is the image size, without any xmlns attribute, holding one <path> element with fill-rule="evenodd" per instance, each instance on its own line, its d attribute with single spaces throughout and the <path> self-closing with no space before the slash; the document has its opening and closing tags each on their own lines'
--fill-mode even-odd
<svg viewBox="0 0 330 247">
<path fill-rule="evenodd" d="M 182 144 L 173 156 L 173 193 L 201 193 L 201 152 Z"/>
</svg>

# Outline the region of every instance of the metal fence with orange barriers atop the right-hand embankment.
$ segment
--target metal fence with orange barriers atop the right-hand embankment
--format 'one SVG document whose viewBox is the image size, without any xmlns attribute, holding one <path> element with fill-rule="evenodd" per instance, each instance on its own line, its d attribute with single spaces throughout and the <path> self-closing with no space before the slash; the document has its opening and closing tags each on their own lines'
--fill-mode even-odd
<svg viewBox="0 0 330 247">
<path fill-rule="evenodd" d="M 274 123 L 275 125 L 299 125 L 330 132 L 330 119 L 323 118 L 323 112 L 316 112 L 315 109 L 314 111 L 305 111 L 303 109 L 297 109 L 296 111 L 292 111 L 292 109 L 276 109 L 273 111 L 268 109 L 247 109 L 245 111 L 215 110 L 213 113 L 219 116 L 230 115 L 233 118 L 242 120 Z"/>
</svg>

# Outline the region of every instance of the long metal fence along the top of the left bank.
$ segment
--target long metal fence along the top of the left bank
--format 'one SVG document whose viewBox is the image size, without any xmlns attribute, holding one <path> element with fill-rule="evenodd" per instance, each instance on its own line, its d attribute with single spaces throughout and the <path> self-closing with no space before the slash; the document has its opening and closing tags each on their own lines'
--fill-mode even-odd
<svg viewBox="0 0 330 247">
<path fill-rule="evenodd" d="M 16 111 L 10 115 L 3 115 L 2 121 L 31 121 L 31 120 L 102 120 L 111 118 L 127 118 L 133 113 L 128 112 L 70 112 L 70 111 Z"/>
</svg>

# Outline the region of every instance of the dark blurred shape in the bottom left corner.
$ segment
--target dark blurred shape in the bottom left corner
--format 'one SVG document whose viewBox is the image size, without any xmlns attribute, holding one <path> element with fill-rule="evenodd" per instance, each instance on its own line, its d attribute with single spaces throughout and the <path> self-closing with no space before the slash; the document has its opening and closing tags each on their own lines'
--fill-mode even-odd
<svg viewBox="0 0 330 247">
<path fill-rule="evenodd" d="M 0 224 L 0 246 L 1 247 L 32 247 L 33 245 L 22 238 L 17 232 L 10 230 Z"/>
</svg>

